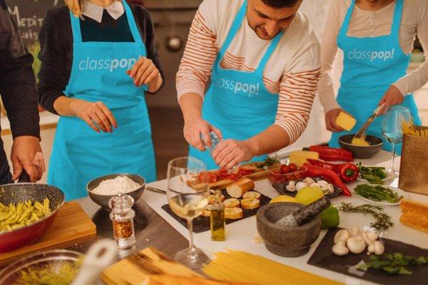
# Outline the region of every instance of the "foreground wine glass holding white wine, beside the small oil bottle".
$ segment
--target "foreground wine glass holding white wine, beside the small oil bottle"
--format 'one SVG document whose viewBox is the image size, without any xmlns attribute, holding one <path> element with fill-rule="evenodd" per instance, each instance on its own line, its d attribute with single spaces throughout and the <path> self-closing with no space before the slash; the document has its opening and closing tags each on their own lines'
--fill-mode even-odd
<svg viewBox="0 0 428 285">
<path fill-rule="evenodd" d="M 173 159 L 168 163 L 168 203 L 177 216 L 187 220 L 190 233 L 188 249 L 178 251 L 174 260 L 191 269 L 200 268 L 208 262 L 203 251 L 193 245 L 193 219 L 205 210 L 210 195 L 208 182 L 197 180 L 198 174 L 205 169 L 203 161 L 190 156 Z"/>
</svg>

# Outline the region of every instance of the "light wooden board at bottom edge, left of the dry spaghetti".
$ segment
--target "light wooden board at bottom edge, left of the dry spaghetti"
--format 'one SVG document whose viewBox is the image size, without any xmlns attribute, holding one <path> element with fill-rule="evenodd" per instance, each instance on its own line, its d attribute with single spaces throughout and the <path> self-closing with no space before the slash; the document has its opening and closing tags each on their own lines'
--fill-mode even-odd
<svg viewBox="0 0 428 285">
<path fill-rule="evenodd" d="M 201 277 L 161 251 L 148 247 L 108 267 L 101 274 L 101 279 L 108 285 L 140 285 L 152 274 Z"/>
</svg>

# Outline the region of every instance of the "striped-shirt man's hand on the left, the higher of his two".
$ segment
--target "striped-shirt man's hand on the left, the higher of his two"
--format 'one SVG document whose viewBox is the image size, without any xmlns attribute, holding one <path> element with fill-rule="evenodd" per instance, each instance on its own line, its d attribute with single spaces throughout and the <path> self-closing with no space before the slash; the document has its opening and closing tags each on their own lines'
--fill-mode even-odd
<svg viewBox="0 0 428 285">
<path fill-rule="evenodd" d="M 205 151 L 205 147 L 200 139 L 200 134 L 203 135 L 203 140 L 205 141 L 206 146 L 210 147 L 210 131 L 214 131 L 219 139 L 223 139 L 221 131 L 202 118 L 191 119 L 184 123 L 183 134 L 185 140 L 190 144 L 190 146 L 193 146 L 195 149 L 199 149 L 200 151 Z"/>
</svg>

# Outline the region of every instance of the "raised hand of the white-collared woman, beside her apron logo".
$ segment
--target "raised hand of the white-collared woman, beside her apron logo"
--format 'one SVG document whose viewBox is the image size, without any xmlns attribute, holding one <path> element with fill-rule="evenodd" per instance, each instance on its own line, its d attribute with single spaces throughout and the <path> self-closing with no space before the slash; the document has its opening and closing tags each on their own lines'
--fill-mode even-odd
<svg viewBox="0 0 428 285">
<path fill-rule="evenodd" d="M 162 84 L 161 73 L 151 59 L 141 57 L 126 74 L 134 79 L 136 86 L 148 84 L 149 91 L 156 91 Z"/>
</svg>

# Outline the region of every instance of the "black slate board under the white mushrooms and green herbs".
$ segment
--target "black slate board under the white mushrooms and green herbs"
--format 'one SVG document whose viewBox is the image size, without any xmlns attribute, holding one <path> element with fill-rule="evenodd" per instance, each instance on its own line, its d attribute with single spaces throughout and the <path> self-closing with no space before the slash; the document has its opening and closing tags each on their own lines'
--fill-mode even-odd
<svg viewBox="0 0 428 285">
<path fill-rule="evenodd" d="M 307 264 L 321 267 L 323 269 L 335 271 L 337 273 L 346 274 L 355 278 L 360 278 L 366 281 L 371 281 L 377 284 L 428 284 L 428 265 L 422 266 L 406 266 L 407 269 L 413 271 L 410 275 L 389 275 L 382 270 L 368 269 L 365 271 L 357 271 L 363 276 L 352 274 L 348 271 L 350 267 L 355 266 L 361 260 L 370 261 L 370 255 L 367 250 L 362 254 L 347 254 L 345 256 L 337 256 L 332 253 L 333 238 L 337 229 L 329 229 L 324 239 L 310 256 Z M 385 245 L 385 254 L 394 254 L 396 252 L 412 255 L 412 256 L 428 256 L 428 249 L 421 249 L 417 246 L 404 244 L 401 241 L 393 241 L 392 239 L 382 239 Z"/>
</svg>

